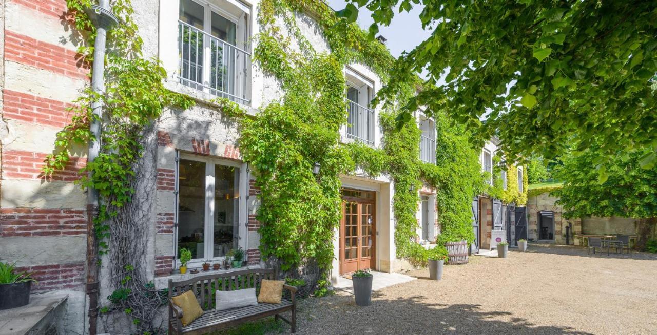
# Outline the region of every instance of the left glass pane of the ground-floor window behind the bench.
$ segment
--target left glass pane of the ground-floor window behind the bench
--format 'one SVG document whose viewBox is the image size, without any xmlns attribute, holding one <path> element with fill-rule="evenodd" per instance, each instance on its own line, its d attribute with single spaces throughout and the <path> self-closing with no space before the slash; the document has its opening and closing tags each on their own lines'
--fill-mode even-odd
<svg viewBox="0 0 657 335">
<path fill-rule="evenodd" d="M 180 248 L 192 252 L 192 258 L 205 258 L 206 165 L 181 159 L 178 171 L 178 254 Z"/>
</svg>

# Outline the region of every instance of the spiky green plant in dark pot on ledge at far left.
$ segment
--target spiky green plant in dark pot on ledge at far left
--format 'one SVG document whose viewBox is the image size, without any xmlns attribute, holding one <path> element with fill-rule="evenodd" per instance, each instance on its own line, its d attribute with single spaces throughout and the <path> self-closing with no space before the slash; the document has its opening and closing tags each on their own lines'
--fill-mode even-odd
<svg viewBox="0 0 657 335">
<path fill-rule="evenodd" d="M 30 302 L 32 273 L 16 272 L 16 263 L 0 262 L 0 309 L 27 305 Z"/>
</svg>

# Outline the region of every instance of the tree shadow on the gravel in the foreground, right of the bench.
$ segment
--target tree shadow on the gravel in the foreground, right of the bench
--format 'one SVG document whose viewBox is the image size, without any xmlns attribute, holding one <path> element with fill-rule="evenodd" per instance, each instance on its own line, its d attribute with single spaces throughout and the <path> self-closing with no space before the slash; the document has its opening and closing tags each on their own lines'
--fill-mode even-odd
<svg viewBox="0 0 657 335">
<path fill-rule="evenodd" d="M 299 309 L 297 334 L 591 334 L 569 326 L 535 325 L 480 305 L 426 304 L 423 298 L 373 300 L 368 307 L 357 307 L 352 296 L 322 298 L 311 309 Z"/>
</svg>

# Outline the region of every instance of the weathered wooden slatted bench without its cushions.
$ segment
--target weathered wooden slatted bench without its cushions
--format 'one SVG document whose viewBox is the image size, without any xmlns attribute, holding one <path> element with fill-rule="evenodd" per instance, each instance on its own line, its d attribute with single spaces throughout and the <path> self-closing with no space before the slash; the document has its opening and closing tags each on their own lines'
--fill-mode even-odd
<svg viewBox="0 0 657 335">
<path fill-rule="evenodd" d="M 296 331 L 296 300 L 294 293 L 297 288 L 284 285 L 284 289 L 290 293 L 290 298 L 283 298 L 281 304 L 262 304 L 215 311 L 214 292 L 216 290 L 231 291 L 242 288 L 260 289 L 262 279 L 276 279 L 274 269 L 246 269 L 204 275 L 185 281 L 173 281 L 169 279 L 169 334 L 206 334 L 208 332 L 228 328 L 240 323 L 261 319 L 263 317 L 275 316 L 282 319 L 292 327 L 292 333 Z M 192 290 L 198 299 L 198 304 L 204 310 L 202 316 L 187 326 L 183 326 L 181 318 L 183 311 L 171 301 L 171 297 Z M 283 292 L 285 292 L 285 290 Z M 285 294 L 284 294 L 285 296 Z M 281 313 L 291 311 L 290 320 L 281 317 Z"/>
</svg>

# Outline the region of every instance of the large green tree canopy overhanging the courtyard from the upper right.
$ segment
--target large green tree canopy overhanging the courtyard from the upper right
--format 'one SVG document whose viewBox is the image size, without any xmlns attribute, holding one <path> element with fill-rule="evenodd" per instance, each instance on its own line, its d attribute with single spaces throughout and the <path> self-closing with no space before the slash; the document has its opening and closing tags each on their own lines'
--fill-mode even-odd
<svg viewBox="0 0 657 335">
<path fill-rule="evenodd" d="M 498 134 L 510 154 L 553 159 L 574 139 L 579 150 L 599 143 L 603 165 L 619 150 L 657 162 L 657 1 L 348 0 L 338 15 L 355 20 L 367 6 L 374 35 L 420 1 L 434 33 L 399 58 L 376 97 L 428 70 L 400 123 L 423 105 L 449 111 L 478 142 Z"/>
</svg>

